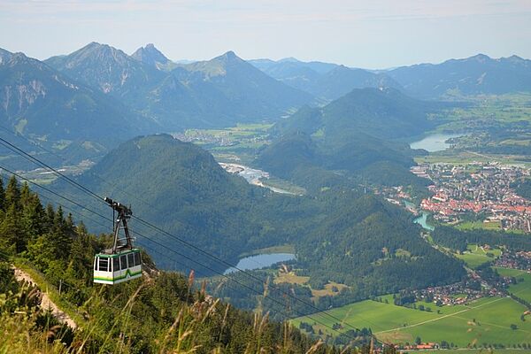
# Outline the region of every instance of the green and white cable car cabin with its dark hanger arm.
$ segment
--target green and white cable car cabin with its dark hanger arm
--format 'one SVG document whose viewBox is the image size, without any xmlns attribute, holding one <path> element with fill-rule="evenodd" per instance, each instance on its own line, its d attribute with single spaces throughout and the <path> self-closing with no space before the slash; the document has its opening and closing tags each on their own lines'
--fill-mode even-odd
<svg viewBox="0 0 531 354">
<path fill-rule="evenodd" d="M 127 219 L 133 215 L 126 205 L 105 197 L 112 207 L 112 213 L 118 213 L 114 219 L 114 242 L 112 249 L 104 250 L 94 257 L 94 282 L 101 284 L 118 284 L 142 277 L 142 259 L 140 250 L 133 247 L 133 240 L 127 228 Z M 123 230 L 125 238 L 119 238 Z"/>
</svg>

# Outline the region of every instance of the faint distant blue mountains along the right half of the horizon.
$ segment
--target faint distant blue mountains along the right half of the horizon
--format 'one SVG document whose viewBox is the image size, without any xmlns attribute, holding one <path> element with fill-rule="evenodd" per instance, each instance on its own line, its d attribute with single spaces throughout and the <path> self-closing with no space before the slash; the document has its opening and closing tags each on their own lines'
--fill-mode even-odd
<svg viewBox="0 0 531 354">
<path fill-rule="evenodd" d="M 441 64 L 401 66 L 367 71 L 295 58 L 250 60 L 260 70 L 314 96 L 334 100 L 351 89 L 394 88 L 422 99 L 500 95 L 531 90 L 531 60 L 512 56 L 489 58 L 478 54 Z"/>
</svg>

